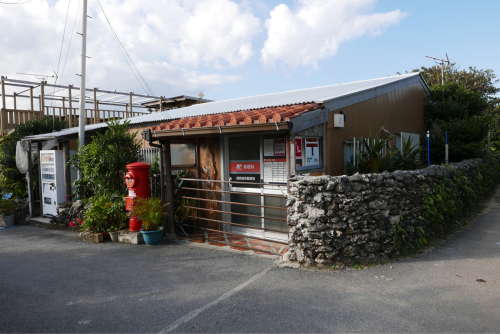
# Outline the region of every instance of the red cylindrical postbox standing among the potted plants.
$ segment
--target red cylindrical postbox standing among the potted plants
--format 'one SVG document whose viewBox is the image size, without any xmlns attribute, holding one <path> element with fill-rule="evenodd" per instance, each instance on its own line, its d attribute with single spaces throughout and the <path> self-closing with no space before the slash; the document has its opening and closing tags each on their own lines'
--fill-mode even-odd
<svg viewBox="0 0 500 334">
<path fill-rule="evenodd" d="M 128 187 L 128 196 L 125 198 L 125 209 L 134 209 L 134 198 L 149 198 L 149 169 L 150 164 L 144 162 L 134 162 L 127 165 L 128 173 L 125 174 L 125 184 Z M 130 216 L 129 230 L 140 231 L 142 223 L 135 216 Z"/>
</svg>

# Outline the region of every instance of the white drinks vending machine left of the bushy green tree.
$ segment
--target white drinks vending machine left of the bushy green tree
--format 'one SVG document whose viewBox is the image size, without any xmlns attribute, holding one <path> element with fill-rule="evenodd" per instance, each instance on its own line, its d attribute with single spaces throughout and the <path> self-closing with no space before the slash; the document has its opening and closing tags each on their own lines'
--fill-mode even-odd
<svg viewBox="0 0 500 334">
<path fill-rule="evenodd" d="M 71 153 L 76 153 L 72 151 Z M 63 151 L 40 151 L 40 168 L 42 171 L 43 215 L 56 216 L 57 205 L 66 199 L 64 190 L 64 157 Z M 76 171 L 71 170 L 71 182 L 76 179 Z"/>
</svg>

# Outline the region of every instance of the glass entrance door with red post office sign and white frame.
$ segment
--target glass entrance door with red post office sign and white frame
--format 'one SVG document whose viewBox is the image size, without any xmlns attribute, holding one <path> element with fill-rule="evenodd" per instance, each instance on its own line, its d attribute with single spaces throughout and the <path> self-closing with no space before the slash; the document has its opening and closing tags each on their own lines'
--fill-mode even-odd
<svg viewBox="0 0 500 334">
<path fill-rule="evenodd" d="M 285 136 L 226 137 L 225 147 L 229 167 L 227 180 L 245 182 L 229 184 L 231 194 L 228 201 L 248 204 L 230 205 L 228 211 L 240 214 L 230 215 L 231 222 L 276 230 L 232 226 L 232 231 L 266 239 L 286 240 L 286 210 L 276 209 L 285 208 L 286 204 L 286 199 L 278 197 L 286 196 Z M 262 186 L 260 183 L 269 185 Z M 263 194 L 270 196 L 261 196 Z"/>
</svg>

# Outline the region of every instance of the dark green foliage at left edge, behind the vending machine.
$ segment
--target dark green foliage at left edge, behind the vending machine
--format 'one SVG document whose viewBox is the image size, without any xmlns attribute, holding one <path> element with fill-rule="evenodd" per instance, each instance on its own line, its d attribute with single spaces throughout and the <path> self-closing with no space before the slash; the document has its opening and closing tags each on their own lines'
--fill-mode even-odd
<svg viewBox="0 0 500 334">
<path fill-rule="evenodd" d="M 0 138 L 0 186 L 2 192 L 12 192 L 18 197 L 27 196 L 26 177 L 19 172 L 16 165 L 17 142 L 26 136 L 60 131 L 66 128 L 67 125 L 67 121 L 44 116 L 40 120 L 18 124 L 13 132 Z M 33 166 L 33 170 L 38 170 L 37 165 Z M 38 173 L 36 173 L 36 176 L 38 176 Z M 35 179 L 33 182 L 35 185 L 38 184 Z"/>
</svg>

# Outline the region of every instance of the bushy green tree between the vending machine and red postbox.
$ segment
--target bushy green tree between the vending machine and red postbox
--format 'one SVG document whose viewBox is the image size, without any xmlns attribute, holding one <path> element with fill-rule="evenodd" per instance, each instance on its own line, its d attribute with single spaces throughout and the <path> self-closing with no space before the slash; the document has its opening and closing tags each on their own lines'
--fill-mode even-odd
<svg viewBox="0 0 500 334">
<path fill-rule="evenodd" d="M 92 137 L 90 144 L 78 149 L 69 164 L 80 171 L 73 185 L 82 197 L 123 193 L 122 172 L 138 160 L 137 133 L 127 133 L 130 121 L 111 121 L 108 130 Z"/>
</svg>

